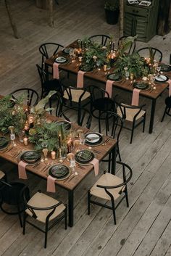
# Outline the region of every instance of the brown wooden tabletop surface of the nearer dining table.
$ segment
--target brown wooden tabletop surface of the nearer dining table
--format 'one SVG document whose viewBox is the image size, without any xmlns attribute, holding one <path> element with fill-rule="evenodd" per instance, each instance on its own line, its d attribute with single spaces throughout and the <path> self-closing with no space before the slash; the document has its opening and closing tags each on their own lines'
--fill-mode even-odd
<svg viewBox="0 0 171 256">
<path fill-rule="evenodd" d="M 52 120 L 52 121 L 58 119 L 58 117 L 54 117 L 51 115 L 49 115 L 48 117 L 49 117 L 49 120 Z M 80 128 L 80 126 L 78 126 L 77 124 L 74 124 L 74 123 L 72 124 L 72 129 L 76 130 L 78 128 Z M 84 131 L 84 133 L 89 131 L 87 128 L 81 127 L 81 129 Z M 106 141 L 107 138 L 108 138 L 107 136 L 104 136 L 104 141 Z M 25 150 L 31 150 L 31 149 L 33 149 L 33 145 L 28 143 L 28 146 L 25 146 L 22 142 L 19 141 L 18 138 L 16 138 L 16 144 L 17 144 L 17 146 L 12 147 L 12 149 L 9 151 L 8 150 L 6 151 L 5 149 L 1 150 L 0 157 L 4 158 L 5 160 L 7 160 L 9 162 L 13 162 L 14 164 L 17 165 L 17 163 L 20 161 L 18 159 L 19 152 L 25 151 Z M 116 145 L 116 140 L 109 138 L 109 141 L 107 142 L 107 144 L 93 146 L 91 150 L 92 151 L 94 150 L 96 159 L 101 161 L 104 157 L 107 156 L 107 154 L 114 148 L 115 145 Z M 82 148 L 88 149 L 88 146 L 82 145 Z M 59 163 L 58 160 L 51 160 L 51 157 L 49 156 L 48 161 L 46 163 L 40 162 L 37 166 L 27 165 L 26 170 L 29 170 L 31 173 L 34 173 L 37 176 L 40 176 L 40 177 L 46 179 L 50 166 L 52 164 L 57 164 L 57 163 Z M 70 162 L 68 162 L 67 160 L 64 160 L 63 164 L 69 166 Z M 90 164 L 90 165 L 76 164 L 75 169 L 79 173 L 78 176 L 74 176 L 74 178 L 72 178 L 71 180 L 69 178 L 69 179 L 66 179 L 63 181 L 56 181 L 57 185 L 62 186 L 64 189 L 68 189 L 68 190 L 75 189 L 75 187 L 78 186 L 78 184 L 83 180 L 83 178 L 85 178 L 88 175 L 88 173 L 93 171 L 93 165 L 92 164 Z"/>
</svg>

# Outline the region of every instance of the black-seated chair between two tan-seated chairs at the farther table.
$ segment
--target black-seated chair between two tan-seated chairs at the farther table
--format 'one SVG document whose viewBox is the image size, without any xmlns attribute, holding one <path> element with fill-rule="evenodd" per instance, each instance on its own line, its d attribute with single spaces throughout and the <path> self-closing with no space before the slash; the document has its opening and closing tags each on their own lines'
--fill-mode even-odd
<svg viewBox="0 0 171 256">
<path fill-rule="evenodd" d="M 115 112 L 114 100 L 110 99 L 109 94 L 99 86 L 88 86 L 91 94 L 91 115 L 99 121 L 99 133 L 101 133 L 101 120 L 105 120 L 106 116 L 102 113 L 106 111 Z"/>
</svg>

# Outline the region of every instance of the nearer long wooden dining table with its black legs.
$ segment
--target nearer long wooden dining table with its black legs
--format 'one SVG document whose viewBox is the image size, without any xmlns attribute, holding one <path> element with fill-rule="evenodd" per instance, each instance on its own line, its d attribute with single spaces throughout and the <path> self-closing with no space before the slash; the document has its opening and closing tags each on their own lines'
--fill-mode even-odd
<svg viewBox="0 0 171 256">
<path fill-rule="evenodd" d="M 54 116 L 49 116 L 50 120 L 56 120 L 57 117 Z M 80 128 L 80 126 L 76 125 L 76 124 L 72 124 L 72 129 L 76 130 Z M 86 133 L 88 132 L 87 128 L 83 128 L 83 131 Z M 104 136 L 104 141 L 107 139 L 108 137 Z M 32 144 L 28 144 L 28 146 L 25 146 L 24 144 L 22 144 L 22 142 L 20 142 L 18 139 L 16 139 L 17 142 L 17 146 L 14 146 L 11 150 L 7 150 L 7 151 L 0 151 L 0 157 L 4 158 L 5 160 L 14 163 L 15 165 L 18 164 L 18 157 L 16 157 L 16 154 L 22 150 L 30 150 L 33 149 L 33 145 Z M 109 141 L 107 142 L 107 144 L 105 145 L 99 145 L 99 146 L 95 146 L 92 147 L 92 150 L 94 149 L 96 152 L 94 152 L 94 154 L 96 154 L 96 158 L 99 160 L 99 162 L 101 160 L 104 159 L 104 157 L 107 156 L 107 154 L 109 154 L 109 152 L 112 152 L 112 172 L 114 172 L 115 170 L 115 164 L 116 164 L 116 142 L 114 139 L 109 138 Z M 82 148 L 88 149 L 88 146 L 83 145 Z M 98 153 L 97 153 L 98 152 Z M 45 163 L 44 162 L 40 162 L 40 164 L 36 167 L 32 166 L 32 165 L 27 165 L 26 170 L 29 171 L 30 173 L 35 174 L 36 176 L 40 177 L 40 178 L 44 178 L 47 179 L 47 173 L 48 173 L 48 169 L 50 167 L 50 165 L 52 164 L 57 164 L 59 163 L 58 160 L 51 160 L 51 157 L 49 157 L 48 162 L 46 163 L 46 168 L 45 168 Z M 64 160 L 64 165 L 69 166 L 70 162 L 68 162 L 67 160 Z M 69 217 L 69 226 L 72 227 L 74 224 L 74 191 L 77 188 L 77 186 L 81 183 L 81 181 L 83 181 L 84 178 L 86 178 L 86 176 L 88 175 L 88 173 L 91 173 L 93 171 L 93 165 L 76 165 L 76 170 L 78 172 L 78 175 L 74 175 L 72 178 L 66 179 L 64 181 L 56 181 L 56 185 L 62 187 L 62 189 L 67 190 L 68 192 L 68 217 Z M 99 168 L 100 170 L 100 168 Z"/>
</svg>

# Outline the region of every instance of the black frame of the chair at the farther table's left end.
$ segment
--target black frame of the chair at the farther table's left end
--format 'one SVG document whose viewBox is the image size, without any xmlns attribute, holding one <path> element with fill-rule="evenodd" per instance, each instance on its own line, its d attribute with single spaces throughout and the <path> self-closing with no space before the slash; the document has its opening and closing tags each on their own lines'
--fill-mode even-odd
<svg viewBox="0 0 171 256">
<path fill-rule="evenodd" d="M 41 44 L 41 46 L 39 47 L 39 51 L 42 55 L 41 57 L 41 67 L 43 68 L 44 66 L 44 59 L 49 59 L 49 52 L 47 51 L 46 49 L 46 46 L 56 46 L 56 49 L 51 53 L 51 56 L 53 56 L 54 54 L 57 54 L 57 51 L 59 50 L 59 48 L 64 48 L 64 46 L 62 46 L 61 44 L 57 44 L 57 43 L 44 43 L 44 44 Z"/>
</svg>

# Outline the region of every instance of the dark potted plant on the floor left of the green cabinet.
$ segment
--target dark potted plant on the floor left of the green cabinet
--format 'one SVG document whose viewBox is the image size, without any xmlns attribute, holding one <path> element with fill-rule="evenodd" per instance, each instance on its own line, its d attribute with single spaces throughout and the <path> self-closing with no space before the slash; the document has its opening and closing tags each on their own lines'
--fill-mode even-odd
<svg viewBox="0 0 171 256">
<path fill-rule="evenodd" d="M 120 15 L 120 0 L 107 0 L 104 3 L 108 24 L 117 24 Z"/>
</svg>

